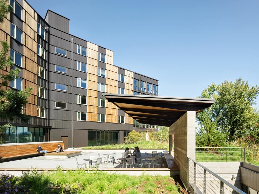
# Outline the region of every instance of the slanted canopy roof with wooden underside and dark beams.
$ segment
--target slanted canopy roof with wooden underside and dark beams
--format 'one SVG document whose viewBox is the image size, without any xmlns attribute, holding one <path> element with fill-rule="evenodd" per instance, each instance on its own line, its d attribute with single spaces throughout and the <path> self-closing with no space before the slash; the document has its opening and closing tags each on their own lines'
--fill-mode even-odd
<svg viewBox="0 0 259 194">
<path fill-rule="evenodd" d="M 210 107 L 215 100 L 207 98 L 178 98 L 151 95 L 102 94 L 140 123 L 170 126 L 186 111 Z"/>
</svg>

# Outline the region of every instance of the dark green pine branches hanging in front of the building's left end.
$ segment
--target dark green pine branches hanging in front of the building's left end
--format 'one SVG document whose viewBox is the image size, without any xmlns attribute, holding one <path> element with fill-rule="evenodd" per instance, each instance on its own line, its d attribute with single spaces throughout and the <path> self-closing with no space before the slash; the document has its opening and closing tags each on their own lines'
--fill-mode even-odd
<svg viewBox="0 0 259 194">
<path fill-rule="evenodd" d="M 0 1 L 0 23 L 3 23 L 6 19 L 7 13 L 13 10 L 9 4 L 9 0 Z M 16 91 L 13 89 L 4 90 L 5 86 L 9 86 L 10 81 L 18 78 L 19 69 L 10 70 L 7 72 L 6 69 L 13 65 L 12 58 L 9 55 L 10 47 L 8 42 L 1 42 L 2 49 L 0 51 L 0 118 L 10 119 L 18 118 L 21 122 L 27 122 L 29 116 L 22 114 L 22 108 L 27 103 L 27 99 L 32 91 L 31 87 L 23 89 L 22 91 Z M 0 126 L 0 137 L 2 132 L 11 127 L 11 124 L 5 124 Z"/>
</svg>

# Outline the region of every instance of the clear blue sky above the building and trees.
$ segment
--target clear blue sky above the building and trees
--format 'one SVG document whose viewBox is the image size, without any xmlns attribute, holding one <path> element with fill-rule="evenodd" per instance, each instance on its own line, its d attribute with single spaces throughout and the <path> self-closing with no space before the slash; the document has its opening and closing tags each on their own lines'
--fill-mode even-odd
<svg viewBox="0 0 259 194">
<path fill-rule="evenodd" d="M 159 95 L 197 97 L 239 77 L 259 85 L 259 1 L 27 0 L 70 19 L 70 34 L 114 51 L 114 65 L 159 80 Z M 259 97 L 254 107 L 259 108 Z"/>
</svg>

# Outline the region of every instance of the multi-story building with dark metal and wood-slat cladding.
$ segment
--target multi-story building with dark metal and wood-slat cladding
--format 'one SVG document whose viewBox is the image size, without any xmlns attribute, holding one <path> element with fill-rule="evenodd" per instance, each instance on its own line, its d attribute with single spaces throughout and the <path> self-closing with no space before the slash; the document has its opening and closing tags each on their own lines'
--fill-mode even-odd
<svg viewBox="0 0 259 194">
<path fill-rule="evenodd" d="M 63 140 L 65 147 L 81 147 L 123 143 L 131 130 L 157 130 L 102 93 L 158 95 L 158 80 L 113 65 L 113 51 L 69 34 L 68 18 L 48 10 L 43 19 L 24 0 L 10 3 L 14 11 L 1 24 L 0 38 L 10 43 L 11 68 L 21 69 L 10 87 L 34 90 L 23 110 L 31 116 L 28 124 L 0 120 L 14 126 L 4 143 Z"/>
</svg>

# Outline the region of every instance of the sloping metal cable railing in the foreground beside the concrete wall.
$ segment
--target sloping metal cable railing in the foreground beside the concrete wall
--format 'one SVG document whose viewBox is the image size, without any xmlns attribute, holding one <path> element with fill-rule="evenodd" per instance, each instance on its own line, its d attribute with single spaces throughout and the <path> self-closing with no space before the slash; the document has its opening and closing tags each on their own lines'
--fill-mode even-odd
<svg viewBox="0 0 259 194">
<path fill-rule="evenodd" d="M 245 194 L 245 192 L 191 158 L 188 158 L 188 192 L 193 194 Z"/>
</svg>

